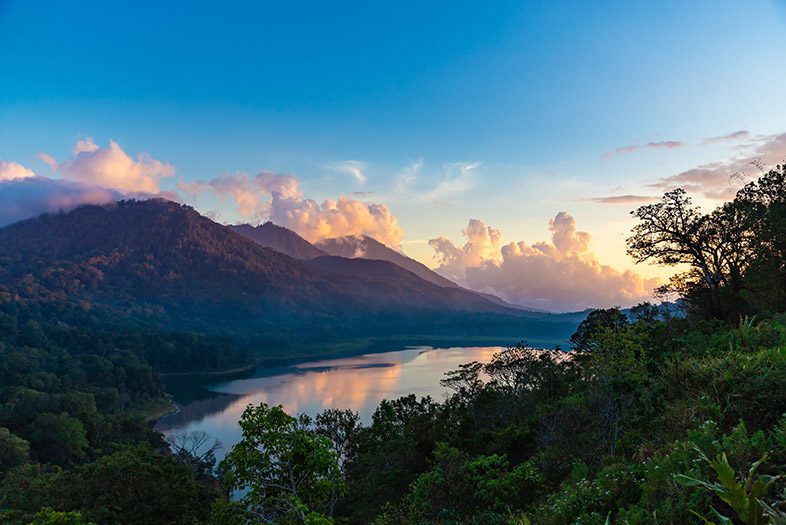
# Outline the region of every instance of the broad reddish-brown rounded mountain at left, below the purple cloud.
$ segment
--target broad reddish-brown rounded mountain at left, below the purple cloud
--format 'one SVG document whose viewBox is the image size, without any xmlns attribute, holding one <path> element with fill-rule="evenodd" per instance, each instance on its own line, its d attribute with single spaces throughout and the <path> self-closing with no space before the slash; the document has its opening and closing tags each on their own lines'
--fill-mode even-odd
<svg viewBox="0 0 786 525">
<path fill-rule="evenodd" d="M 281 307 L 330 303 L 338 291 L 313 268 L 161 200 L 8 226 L 0 254 L 0 284 L 39 299 L 68 294 L 129 308 L 236 303 L 275 316 Z"/>
</svg>

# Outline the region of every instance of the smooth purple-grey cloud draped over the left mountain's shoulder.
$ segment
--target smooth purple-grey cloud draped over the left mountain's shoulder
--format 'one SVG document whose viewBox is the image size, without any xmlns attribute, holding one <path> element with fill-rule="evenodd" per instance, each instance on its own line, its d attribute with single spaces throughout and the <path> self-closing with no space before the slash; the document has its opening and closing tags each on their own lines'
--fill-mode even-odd
<svg viewBox="0 0 786 525">
<path fill-rule="evenodd" d="M 122 197 L 115 190 L 49 177 L 0 181 L 0 226 L 83 204 L 108 204 Z"/>
</svg>

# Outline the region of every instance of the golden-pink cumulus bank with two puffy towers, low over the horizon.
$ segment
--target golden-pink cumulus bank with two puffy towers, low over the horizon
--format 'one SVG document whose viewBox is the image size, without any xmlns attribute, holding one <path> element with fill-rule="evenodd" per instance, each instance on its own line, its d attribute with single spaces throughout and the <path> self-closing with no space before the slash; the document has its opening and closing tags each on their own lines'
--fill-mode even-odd
<svg viewBox="0 0 786 525">
<path fill-rule="evenodd" d="M 591 251 L 591 237 L 576 229 L 566 212 L 549 222 L 550 242 L 511 242 L 473 219 L 464 230 L 462 248 L 440 237 L 429 241 L 440 266 L 437 272 L 474 290 L 497 294 L 532 308 L 554 311 L 630 306 L 650 297 L 657 280 L 601 264 Z"/>
</svg>

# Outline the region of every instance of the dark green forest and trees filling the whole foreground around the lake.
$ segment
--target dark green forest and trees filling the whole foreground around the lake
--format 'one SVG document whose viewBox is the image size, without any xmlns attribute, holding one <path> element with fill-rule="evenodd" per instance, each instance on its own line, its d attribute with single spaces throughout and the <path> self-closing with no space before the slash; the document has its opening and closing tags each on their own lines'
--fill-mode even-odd
<svg viewBox="0 0 786 525">
<path fill-rule="evenodd" d="M 784 524 L 786 171 L 710 213 L 678 190 L 634 215 L 631 255 L 687 268 L 661 290 L 680 314 L 595 310 L 571 352 L 467 363 L 445 401 L 384 401 L 368 425 L 249 406 L 218 465 L 205 436 L 168 448 L 145 424 L 163 396 L 153 335 L 4 314 L 0 518 Z"/>
</svg>

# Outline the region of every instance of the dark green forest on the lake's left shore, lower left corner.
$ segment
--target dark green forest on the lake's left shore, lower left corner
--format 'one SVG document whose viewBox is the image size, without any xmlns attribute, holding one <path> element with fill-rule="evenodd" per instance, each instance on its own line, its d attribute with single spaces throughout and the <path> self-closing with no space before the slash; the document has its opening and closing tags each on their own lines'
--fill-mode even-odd
<svg viewBox="0 0 786 525">
<path fill-rule="evenodd" d="M 145 421 L 168 403 L 152 339 L 52 322 L 50 306 L 0 305 L 0 521 L 204 521 L 218 483 Z"/>
</svg>

